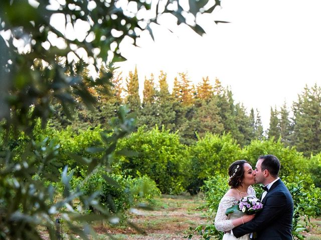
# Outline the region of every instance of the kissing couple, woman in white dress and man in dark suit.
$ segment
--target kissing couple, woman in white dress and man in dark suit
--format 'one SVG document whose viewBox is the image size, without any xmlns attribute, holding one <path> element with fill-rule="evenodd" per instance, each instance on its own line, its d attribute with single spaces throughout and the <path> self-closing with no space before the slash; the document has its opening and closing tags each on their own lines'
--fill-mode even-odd
<svg viewBox="0 0 321 240">
<path fill-rule="evenodd" d="M 257 159 L 255 170 L 245 160 L 234 161 L 228 170 L 231 188 L 222 197 L 215 217 L 215 227 L 224 231 L 223 240 L 292 239 L 293 199 L 278 177 L 280 161 L 274 155 Z M 262 183 L 265 190 L 260 198 L 263 208 L 256 214 L 235 211 L 226 214 L 227 208 L 245 196 L 255 196 L 251 187 Z"/>
</svg>

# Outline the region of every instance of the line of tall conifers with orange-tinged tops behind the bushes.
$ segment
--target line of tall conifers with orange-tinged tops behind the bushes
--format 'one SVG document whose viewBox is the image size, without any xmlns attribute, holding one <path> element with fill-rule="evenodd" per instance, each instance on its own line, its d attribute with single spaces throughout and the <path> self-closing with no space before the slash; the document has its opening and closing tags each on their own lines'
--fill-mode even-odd
<svg viewBox="0 0 321 240">
<path fill-rule="evenodd" d="M 103 67 L 100 70 L 100 75 L 107 72 Z M 82 75 L 88 76 L 88 71 Z M 141 99 L 136 68 L 125 79 L 121 73 L 115 74 L 112 84 L 108 85 L 109 94 L 91 88 L 98 99 L 94 111 L 79 102 L 73 120 L 57 111 L 52 125 L 58 128 L 72 125 L 75 130 L 88 125 L 107 126 L 119 106 L 127 104 L 136 115 L 137 127 L 144 125 L 152 129 L 157 125 L 171 132 L 178 131 L 184 144 L 194 143 L 206 132 L 231 133 L 241 146 L 254 139 L 273 138 L 280 139 L 285 146 L 296 146 L 305 155 L 321 151 L 321 88 L 317 84 L 304 87 L 292 103 L 291 111 L 285 102 L 280 107 L 271 107 L 269 128 L 264 131 L 259 110 L 248 111 L 236 102 L 230 87 L 223 86 L 218 78 L 210 80 L 206 76 L 194 85 L 188 73 L 181 72 L 174 79 L 172 91 L 168 82 L 164 71 L 157 77 L 153 74 L 145 77 Z"/>
</svg>

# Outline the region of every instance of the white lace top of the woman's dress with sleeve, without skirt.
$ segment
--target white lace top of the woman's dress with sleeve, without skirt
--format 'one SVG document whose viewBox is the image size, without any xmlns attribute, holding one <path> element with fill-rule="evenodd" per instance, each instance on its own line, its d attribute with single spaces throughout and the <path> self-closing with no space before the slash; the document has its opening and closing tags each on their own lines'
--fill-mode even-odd
<svg viewBox="0 0 321 240">
<path fill-rule="evenodd" d="M 255 196 L 255 191 L 253 188 L 249 189 L 249 195 L 254 195 Z M 233 229 L 235 226 L 232 223 L 233 219 L 239 218 L 244 213 L 242 211 L 235 211 L 233 213 L 230 213 L 228 216 L 225 214 L 226 209 L 231 207 L 234 204 L 237 204 L 238 199 L 235 199 L 234 196 L 223 196 L 220 203 L 219 207 L 216 212 L 215 216 L 215 227 L 218 231 L 229 231 Z"/>
</svg>

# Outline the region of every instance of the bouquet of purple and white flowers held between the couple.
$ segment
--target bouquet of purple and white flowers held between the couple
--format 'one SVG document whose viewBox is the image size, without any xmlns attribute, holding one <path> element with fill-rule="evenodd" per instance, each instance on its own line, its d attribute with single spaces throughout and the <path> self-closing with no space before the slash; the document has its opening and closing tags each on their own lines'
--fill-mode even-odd
<svg viewBox="0 0 321 240">
<path fill-rule="evenodd" d="M 258 198 L 255 196 L 244 196 L 237 202 L 237 205 L 227 208 L 225 214 L 228 215 L 239 210 L 250 215 L 260 211 L 262 208 L 263 204 Z"/>
</svg>

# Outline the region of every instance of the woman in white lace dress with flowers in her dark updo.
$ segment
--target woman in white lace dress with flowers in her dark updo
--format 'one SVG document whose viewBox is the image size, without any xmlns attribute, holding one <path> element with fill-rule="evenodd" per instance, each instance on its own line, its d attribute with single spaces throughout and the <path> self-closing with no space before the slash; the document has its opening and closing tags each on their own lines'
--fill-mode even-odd
<svg viewBox="0 0 321 240">
<path fill-rule="evenodd" d="M 242 197 L 247 195 L 255 196 L 255 191 L 251 187 L 255 183 L 255 171 L 246 160 L 237 160 L 230 165 L 228 173 L 231 188 L 219 203 L 214 224 L 217 230 L 225 232 L 223 240 L 248 240 L 250 239 L 249 234 L 236 238 L 231 233 L 231 229 L 252 220 L 254 215 L 246 215 L 242 211 L 236 211 L 227 216 L 225 211 L 232 205 L 237 204 L 237 201 Z"/>
</svg>

